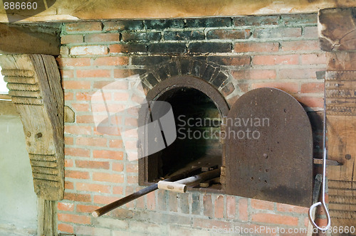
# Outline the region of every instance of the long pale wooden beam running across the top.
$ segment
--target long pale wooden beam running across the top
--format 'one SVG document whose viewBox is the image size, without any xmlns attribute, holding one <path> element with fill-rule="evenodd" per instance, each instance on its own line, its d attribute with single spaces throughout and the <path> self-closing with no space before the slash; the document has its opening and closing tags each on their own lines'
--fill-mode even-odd
<svg viewBox="0 0 356 236">
<path fill-rule="evenodd" d="M 352 6 L 356 2 L 347 0 L 58 0 L 46 11 L 22 22 L 298 14 Z M 3 5 L 0 7 L 0 22 L 9 22 Z M 19 18 L 23 16 L 19 14 Z"/>
</svg>

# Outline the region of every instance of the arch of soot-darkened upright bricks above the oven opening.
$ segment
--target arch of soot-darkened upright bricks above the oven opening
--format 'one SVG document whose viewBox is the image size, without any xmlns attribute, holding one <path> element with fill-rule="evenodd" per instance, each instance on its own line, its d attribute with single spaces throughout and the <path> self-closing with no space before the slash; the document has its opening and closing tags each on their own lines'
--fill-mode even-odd
<svg viewBox="0 0 356 236">
<path fill-rule="evenodd" d="M 235 91 L 229 70 L 216 63 L 197 58 L 173 58 L 167 62 L 153 65 L 148 68 L 147 73 L 140 77 L 146 92 L 148 92 L 159 82 L 179 75 L 191 75 L 204 80 L 218 90 L 225 99 L 229 99 Z"/>
</svg>

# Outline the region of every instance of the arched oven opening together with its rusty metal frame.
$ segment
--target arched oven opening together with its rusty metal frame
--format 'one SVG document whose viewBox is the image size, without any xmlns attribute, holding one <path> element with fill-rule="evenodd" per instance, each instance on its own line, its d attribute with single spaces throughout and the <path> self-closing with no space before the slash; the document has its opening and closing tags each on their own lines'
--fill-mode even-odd
<svg viewBox="0 0 356 236">
<path fill-rule="evenodd" d="M 140 184 L 155 183 L 192 169 L 207 171 L 221 166 L 220 125 L 229 107 L 215 87 L 197 77 L 171 77 L 150 90 L 147 101 L 163 101 L 172 106 L 177 139 L 140 159 Z M 140 119 L 143 117 L 148 116 L 141 115 Z M 205 186 L 221 189 L 219 178 Z"/>
</svg>

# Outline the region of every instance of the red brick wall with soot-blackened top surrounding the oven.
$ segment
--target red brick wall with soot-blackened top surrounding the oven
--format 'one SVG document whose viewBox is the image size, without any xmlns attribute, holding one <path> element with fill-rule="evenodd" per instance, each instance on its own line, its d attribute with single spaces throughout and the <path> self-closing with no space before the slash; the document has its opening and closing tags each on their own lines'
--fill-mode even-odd
<svg viewBox="0 0 356 236">
<path fill-rule="evenodd" d="M 316 14 L 63 23 L 61 43 L 58 64 L 75 123 L 65 125 L 66 193 L 58 203 L 58 232 L 202 236 L 217 235 L 215 227 L 306 227 L 307 208 L 197 191 L 155 191 L 101 218 L 91 217 L 98 206 L 142 187 L 137 161 L 127 161 L 120 136 L 96 130 L 90 100 L 114 78 L 194 58 L 227 72 L 235 90 L 225 83 L 219 90 L 229 104 L 256 87 L 277 87 L 303 104 L 314 125 L 323 107 L 324 82 L 315 73 L 325 70 Z M 119 100 L 130 99 L 122 94 Z M 318 152 L 316 122 L 314 136 Z"/>
</svg>

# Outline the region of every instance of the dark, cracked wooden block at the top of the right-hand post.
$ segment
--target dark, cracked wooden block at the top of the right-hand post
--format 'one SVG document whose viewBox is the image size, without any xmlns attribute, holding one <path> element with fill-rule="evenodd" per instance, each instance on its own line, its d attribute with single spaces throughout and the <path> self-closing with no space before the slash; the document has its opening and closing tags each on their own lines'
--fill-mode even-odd
<svg viewBox="0 0 356 236">
<path fill-rule="evenodd" d="M 356 50 L 356 8 L 319 11 L 320 48 L 325 51 Z"/>
</svg>

